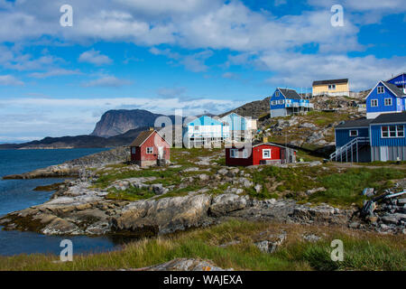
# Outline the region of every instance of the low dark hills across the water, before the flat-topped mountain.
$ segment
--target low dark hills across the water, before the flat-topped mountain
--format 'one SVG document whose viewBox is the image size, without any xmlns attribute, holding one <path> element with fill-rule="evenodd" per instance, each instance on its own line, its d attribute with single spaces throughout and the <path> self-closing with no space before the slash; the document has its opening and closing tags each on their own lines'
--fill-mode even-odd
<svg viewBox="0 0 406 289">
<path fill-rule="evenodd" d="M 138 127 L 127 131 L 125 134 L 111 137 L 101 137 L 95 135 L 45 137 L 41 141 L 33 141 L 23 144 L 0 144 L 0 150 L 114 147 L 128 145 L 134 141 L 140 132 L 146 129 L 148 129 L 148 127 Z"/>
</svg>

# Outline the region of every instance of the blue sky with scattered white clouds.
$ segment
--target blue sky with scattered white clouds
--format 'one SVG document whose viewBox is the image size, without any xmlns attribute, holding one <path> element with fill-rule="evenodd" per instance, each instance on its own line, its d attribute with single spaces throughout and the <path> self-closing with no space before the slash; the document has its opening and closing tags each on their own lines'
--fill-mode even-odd
<svg viewBox="0 0 406 289">
<path fill-rule="evenodd" d="M 87 135 L 109 109 L 219 114 L 319 79 L 370 89 L 406 71 L 405 12 L 405 0 L 0 0 L 0 143 Z"/>
</svg>

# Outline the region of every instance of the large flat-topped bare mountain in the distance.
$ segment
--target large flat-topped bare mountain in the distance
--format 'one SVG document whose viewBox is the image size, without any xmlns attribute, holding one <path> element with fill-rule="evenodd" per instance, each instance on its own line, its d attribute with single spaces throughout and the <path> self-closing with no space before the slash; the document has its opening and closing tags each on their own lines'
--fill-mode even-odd
<svg viewBox="0 0 406 289">
<path fill-rule="evenodd" d="M 95 130 L 90 135 L 101 137 L 122 135 L 131 129 L 152 127 L 155 119 L 162 116 L 143 109 L 109 110 L 97 122 Z M 174 120 L 174 117 L 170 116 L 170 118 Z"/>
</svg>

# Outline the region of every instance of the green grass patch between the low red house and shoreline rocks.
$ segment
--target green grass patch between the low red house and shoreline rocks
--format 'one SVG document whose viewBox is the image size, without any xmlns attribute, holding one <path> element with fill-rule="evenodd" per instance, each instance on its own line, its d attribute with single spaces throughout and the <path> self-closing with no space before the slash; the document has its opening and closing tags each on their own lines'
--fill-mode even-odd
<svg viewBox="0 0 406 289">
<path fill-rule="evenodd" d="M 248 194 L 257 199 L 291 198 L 301 202 L 321 203 L 348 207 L 362 206 L 365 197 L 361 195 L 364 188 L 374 188 L 383 192 L 393 186 L 391 180 L 406 177 L 403 170 L 392 168 L 352 168 L 343 172 L 332 166 L 281 168 L 263 166 L 253 172 L 254 183 L 262 184 L 262 191 L 248 190 Z M 307 195 L 306 191 L 325 188 Z"/>
</svg>

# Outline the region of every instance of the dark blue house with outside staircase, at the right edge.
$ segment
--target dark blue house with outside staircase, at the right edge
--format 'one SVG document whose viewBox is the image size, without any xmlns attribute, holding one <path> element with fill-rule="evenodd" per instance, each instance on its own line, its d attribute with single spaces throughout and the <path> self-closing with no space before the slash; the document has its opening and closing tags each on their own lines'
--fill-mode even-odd
<svg viewBox="0 0 406 289">
<path fill-rule="evenodd" d="M 336 151 L 330 159 L 356 163 L 406 161 L 405 126 L 405 111 L 342 122 L 336 126 Z"/>
</svg>

